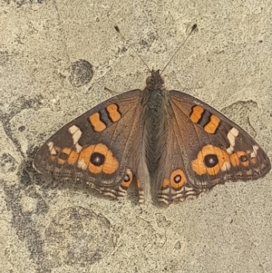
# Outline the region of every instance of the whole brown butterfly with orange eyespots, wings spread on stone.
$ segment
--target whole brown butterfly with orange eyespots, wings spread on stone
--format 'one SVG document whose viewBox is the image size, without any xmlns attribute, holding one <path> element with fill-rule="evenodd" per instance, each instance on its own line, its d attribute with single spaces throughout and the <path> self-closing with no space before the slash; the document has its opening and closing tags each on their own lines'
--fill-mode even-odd
<svg viewBox="0 0 272 273">
<path fill-rule="evenodd" d="M 256 180 L 271 164 L 235 122 L 205 102 L 167 90 L 151 71 L 143 91 L 113 96 L 66 124 L 44 143 L 34 169 L 84 180 L 119 198 L 132 181 L 167 205 L 199 196 L 226 180 Z M 148 190 L 150 189 L 150 190 Z"/>
</svg>

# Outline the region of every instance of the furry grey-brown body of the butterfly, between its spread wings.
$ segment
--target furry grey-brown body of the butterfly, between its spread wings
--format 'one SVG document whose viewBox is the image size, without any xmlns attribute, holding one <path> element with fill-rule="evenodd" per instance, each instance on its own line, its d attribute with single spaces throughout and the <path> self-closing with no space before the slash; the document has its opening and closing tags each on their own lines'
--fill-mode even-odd
<svg viewBox="0 0 272 273">
<path fill-rule="evenodd" d="M 167 138 L 169 128 L 169 93 L 164 87 L 164 81 L 159 71 L 152 71 L 147 79 L 147 86 L 141 92 L 141 122 L 142 122 L 142 164 L 145 179 L 141 184 L 148 187 L 151 183 L 151 194 L 156 195 L 164 176 L 167 159 Z M 141 168 L 137 171 L 141 173 Z"/>
</svg>

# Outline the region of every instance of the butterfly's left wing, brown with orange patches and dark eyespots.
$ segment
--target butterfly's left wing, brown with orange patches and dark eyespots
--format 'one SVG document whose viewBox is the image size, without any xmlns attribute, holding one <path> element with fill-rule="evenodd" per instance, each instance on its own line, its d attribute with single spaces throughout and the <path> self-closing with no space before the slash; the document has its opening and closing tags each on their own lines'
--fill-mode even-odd
<svg viewBox="0 0 272 273">
<path fill-rule="evenodd" d="M 126 186 L 132 179 L 127 164 L 132 139 L 139 134 L 134 122 L 141 114 L 140 93 L 114 96 L 63 126 L 39 149 L 34 168 L 55 178 L 85 180 L 102 193 L 118 195 L 121 183 Z"/>
</svg>

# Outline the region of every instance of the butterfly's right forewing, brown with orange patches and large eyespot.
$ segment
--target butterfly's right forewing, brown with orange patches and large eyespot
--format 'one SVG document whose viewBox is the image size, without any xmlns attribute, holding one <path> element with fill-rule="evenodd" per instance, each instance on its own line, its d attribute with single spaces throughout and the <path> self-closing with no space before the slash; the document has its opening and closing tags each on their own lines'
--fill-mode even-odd
<svg viewBox="0 0 272 273">
<path fill-rule="evenodd" d="M 247 132 L 208 104 L 186 93 L 170 91 L 176 134 L 188 158 L 191 183 L 210 188 L 223 180 L 250 180 L 264 176 L 270 161 Z M 180 118 L 181 117 L 181 118 Z M 170 122 L 174 124 L 174 122 Z"/>
</svg>

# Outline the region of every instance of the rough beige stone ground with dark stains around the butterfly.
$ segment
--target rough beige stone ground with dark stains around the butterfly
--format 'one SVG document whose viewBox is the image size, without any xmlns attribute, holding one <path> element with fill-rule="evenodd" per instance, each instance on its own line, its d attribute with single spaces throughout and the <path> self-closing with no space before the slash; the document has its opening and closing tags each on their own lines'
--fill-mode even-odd
<svg viewBox="0 0 272 273">
<path fill-rule="evenodd" d="M 272 157 L 270 1 L 0 2 L 1 272 L 272 272 L 272 172 L 158 209 L 41 182 L 34 151 L 116 92 L 170 89 L 209 102 Z M 92 64 L 93 76 L 90 71 Z M 92 79 L 91 79 L 92 78 Z"/>
</svg>

